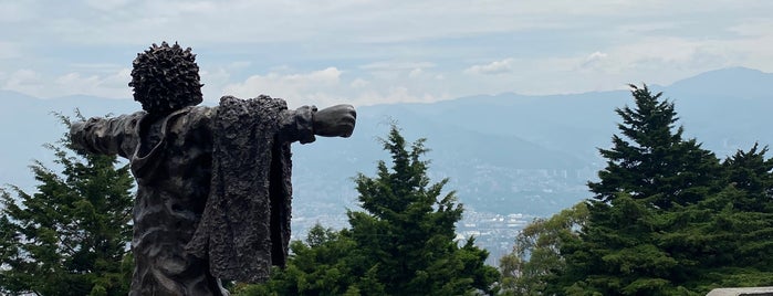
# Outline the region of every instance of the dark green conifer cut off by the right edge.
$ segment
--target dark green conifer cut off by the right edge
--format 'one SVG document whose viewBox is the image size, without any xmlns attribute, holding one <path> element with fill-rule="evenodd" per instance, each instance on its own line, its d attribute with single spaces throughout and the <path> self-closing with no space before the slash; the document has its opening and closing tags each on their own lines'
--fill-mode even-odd
<svg viewBox="0 0 773 296">
<path fill-rule="evenodd" d="M 758 145 L 739 150 L 722 163 L 722 191 L 666 215 L 679 228 L 659 241 L 680 262 L 691 263 L 686 287 L 706 293 L 773 285 L 773 161 L 766 151 Z"/>
</svg>

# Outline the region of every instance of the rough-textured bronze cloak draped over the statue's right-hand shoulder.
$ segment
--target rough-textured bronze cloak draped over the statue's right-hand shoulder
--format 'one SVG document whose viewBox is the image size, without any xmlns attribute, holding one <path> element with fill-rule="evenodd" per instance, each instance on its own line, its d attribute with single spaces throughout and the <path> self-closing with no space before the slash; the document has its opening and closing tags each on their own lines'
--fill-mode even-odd
<svg viewBox="0 0 773 296">
<path fill-rule="evenodd" d="M 212 180 L 203 215 L 186 250 L 209 257 L 213 276 L 269 278 L 288 257 L 290 144 L 278 140 L 286 103 L 268 96 L 220 99 L 212 135 Z"/>
</svg>

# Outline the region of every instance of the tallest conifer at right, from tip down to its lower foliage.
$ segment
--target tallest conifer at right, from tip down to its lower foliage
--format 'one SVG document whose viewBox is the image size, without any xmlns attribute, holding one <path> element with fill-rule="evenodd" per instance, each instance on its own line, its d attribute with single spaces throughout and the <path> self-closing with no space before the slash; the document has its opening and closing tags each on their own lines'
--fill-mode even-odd
<svg viewBox="0 0 773 296">
<path fill-rule="evenodd" d="M 698 235 L 692 222 L 675 218 L 720 191 L 719 160 L 682 138 L 661 93 L 631 85 L 631 94 L 636 107 L 616 109 L 625 139 L 615 135 L 610 149 L 599 149 L 607 167 L 588 182 L 595 193 L 588 223 L 562 246 L 567 267 L 555 282 L 560 294 L 685 294 L 700 266 L 686 240 Z"/>
</svg>

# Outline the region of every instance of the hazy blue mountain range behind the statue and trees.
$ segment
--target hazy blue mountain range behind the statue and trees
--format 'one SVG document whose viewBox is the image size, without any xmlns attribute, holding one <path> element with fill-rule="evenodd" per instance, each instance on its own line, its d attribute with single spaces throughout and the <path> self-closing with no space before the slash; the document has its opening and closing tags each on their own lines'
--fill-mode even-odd
<svg viewBox="0 0 773 296">
<path fill-rule="evenodd" d="M 719 156 L 773 142 L 769 114 L 773 74 L 725 68 L 652 86 L 677 104 L 688 137 Z M 279 95 L 279 94 L 278 94 Z M 294 146 L 295 211 L 299 219 L 332 215 L 343 220 L 356 192 L 351 178 L 373 175 L 386 157 L 377 137 L 395 120 L 408 140 L 428 138 L 430 172 L 458 190 L 468 209 L 497 213 L 550 214 L 587 198 L 585 182 L 604 166 L 597 147 L 608 147 L 619 120 L 614 109 L 631 104 L 627 91 L 555 96 L 500 94 L 433 104 L 393 104 L 358 108 L 349 139 L 320 138 Z M 63 126 L 50 115 L 129 113 L 130 99 L 71 96 L 39 99 L 0 91 L 0 183 L 31 188 L 27 166 L 50 162 L 43 142 L 55 141 Z"/>
</svg>

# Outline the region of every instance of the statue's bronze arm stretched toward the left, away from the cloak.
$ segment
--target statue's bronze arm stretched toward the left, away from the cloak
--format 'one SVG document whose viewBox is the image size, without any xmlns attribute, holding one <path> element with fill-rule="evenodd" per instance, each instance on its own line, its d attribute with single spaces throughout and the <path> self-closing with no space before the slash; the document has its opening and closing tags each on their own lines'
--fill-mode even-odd
<svg viewBox="0 0 773 296">
<path fill-rule="evenodd" d="M 118 117 L 93 117 L 70 126 L 70 139 L 75 149 L 92 154 L 119 155 L 128 158 L 137 145 L 135 127 L 139 113 Z"/>
</svg>

